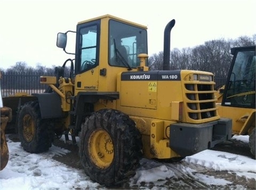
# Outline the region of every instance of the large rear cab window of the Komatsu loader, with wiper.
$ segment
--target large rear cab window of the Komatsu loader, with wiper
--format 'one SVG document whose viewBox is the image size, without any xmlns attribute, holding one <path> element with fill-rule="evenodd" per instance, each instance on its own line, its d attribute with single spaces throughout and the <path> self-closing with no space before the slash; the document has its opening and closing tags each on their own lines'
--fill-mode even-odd
<svg viewBox="0 0 256 190">
<path fill-rule="evenodd" d="M 136 68 L 139 54 L 147 54 L 147 31 L 130 24 L 109 21 L 108 63 Z M 129 65 L 127 65 L 129 64 Z"/>
</svg>

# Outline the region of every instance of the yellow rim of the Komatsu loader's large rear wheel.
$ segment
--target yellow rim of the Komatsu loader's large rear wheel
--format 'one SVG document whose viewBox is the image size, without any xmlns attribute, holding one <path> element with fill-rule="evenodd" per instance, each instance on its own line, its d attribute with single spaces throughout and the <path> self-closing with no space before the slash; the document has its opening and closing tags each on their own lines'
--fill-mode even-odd
<svg viewBox="0 0 256 190">
<path fill-rule="evenodd" d="M 114 144 L 110 135 L 103 129 L 92 132 L 88 144 L 91 161 L 100 169 L 105 169 L 114 160 Z"/>
</svg>

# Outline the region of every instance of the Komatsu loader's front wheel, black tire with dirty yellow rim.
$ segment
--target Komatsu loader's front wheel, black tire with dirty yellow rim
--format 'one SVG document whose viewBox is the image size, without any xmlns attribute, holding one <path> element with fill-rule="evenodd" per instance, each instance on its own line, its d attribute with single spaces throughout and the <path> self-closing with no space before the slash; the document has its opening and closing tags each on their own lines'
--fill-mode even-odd
<svg viewBox="0 0 256 190">
<path fill-rule="evenodd" d="M 18 116 L 18 131 L 21 146 L 27 152 L 44 152 L 52 145 L 53 129 L 49 120 L 41 119 L 37 101 L 22 106 Z"/>
</svg>

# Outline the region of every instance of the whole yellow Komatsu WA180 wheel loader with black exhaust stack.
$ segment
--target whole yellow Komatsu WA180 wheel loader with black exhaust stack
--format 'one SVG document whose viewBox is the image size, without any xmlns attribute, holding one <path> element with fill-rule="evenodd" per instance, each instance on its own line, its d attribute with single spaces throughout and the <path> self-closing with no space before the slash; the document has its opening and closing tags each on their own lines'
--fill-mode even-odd
<svg viewBox="0 0 256 190">
<path fill-rule="evenodd" d="M 18 132 L 23 149 L 43 152 L 54 135 L 76 143 L 85 173 L 106 186 L 135 175 L 142 157 L 184 158 L 231 138 L 231 119 L 218 115 L 210 72 L 170 71 L 170 32 L 164 31 L 164 70 L 149 71 L 147 27 L 103 15 L 58 33 L 57 46 L 75 55 L 49 85 L 28 102 L 19 101 Z M 66 50 L 76 33 L 76 52 Z M 71 65 L 68 77 L 66 64 Z"/>
</svg>

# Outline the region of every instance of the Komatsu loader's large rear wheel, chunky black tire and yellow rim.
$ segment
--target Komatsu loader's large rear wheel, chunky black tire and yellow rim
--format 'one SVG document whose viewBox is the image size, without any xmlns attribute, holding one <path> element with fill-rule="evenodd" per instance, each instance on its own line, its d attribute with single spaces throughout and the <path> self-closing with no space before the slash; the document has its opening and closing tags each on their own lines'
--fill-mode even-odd
<svg viewBox="0 0 256 190">
<path fill-rule="evenodd" d="M 121 186 L 139 167 L 141 134 L 128 115 L 102 109 L 82 124 L 79 154 L 91 180 L 108 187 Z"/>
</svg>

